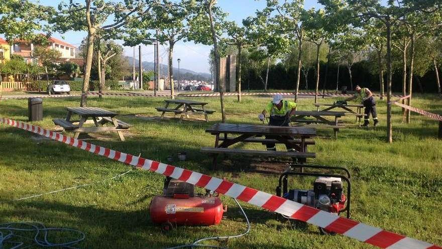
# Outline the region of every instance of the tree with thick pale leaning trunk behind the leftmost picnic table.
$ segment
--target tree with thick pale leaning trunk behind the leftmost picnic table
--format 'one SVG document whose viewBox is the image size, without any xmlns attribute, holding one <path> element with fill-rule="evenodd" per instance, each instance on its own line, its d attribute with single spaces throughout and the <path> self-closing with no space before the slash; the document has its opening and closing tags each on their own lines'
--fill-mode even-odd
<svg viewBox="0 0 442 249">
<path fill-rule="evenodd" d="M 147 15 L 157 0 L 132 0 L 108 2 L 103 0 L 84 0 L 81 5 L 70 1 L 61 3 L 59 13 L 52 20 L 55 29 L 59 32 L 68 30 L 87 30 L 85 71 L 80 106 L 86 106 L 87 91 L 89 89 L 90 70 L 92 67 L 93 43 L 97 33 L 108 33 L 117 36 L 125 27 Z"/>
</svg>

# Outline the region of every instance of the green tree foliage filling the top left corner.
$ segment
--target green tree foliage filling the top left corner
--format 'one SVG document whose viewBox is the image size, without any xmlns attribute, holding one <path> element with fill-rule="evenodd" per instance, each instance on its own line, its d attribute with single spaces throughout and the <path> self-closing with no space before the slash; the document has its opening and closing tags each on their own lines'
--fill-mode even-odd
<svg viewBox="0 0 442 249">
<path fill-rule="evenodd" d="M 28 0 L 0 0 L 0 34 L 12 42 L 17 39 L 34 40 L 35 31 L 46 30 L 54 8 Z"/>
</svg>

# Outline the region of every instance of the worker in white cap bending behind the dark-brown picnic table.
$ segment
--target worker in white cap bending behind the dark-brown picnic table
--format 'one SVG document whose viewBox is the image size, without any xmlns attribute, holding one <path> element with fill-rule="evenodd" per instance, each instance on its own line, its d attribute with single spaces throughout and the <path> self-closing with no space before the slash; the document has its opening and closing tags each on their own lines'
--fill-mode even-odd
<svg viewBox="0 0 442 249">
<path fill-rule="evenodd" d="M 266 119 L 266 114 L 269 113 L 269 125 L 273 126 L 289 126 L 290 117 L 294 115 L 297 104 L 293 101 L 283 100 L 282 95 L 277 94 L 273 101 L 269 102 L 258 118 L 261 121 Z M 266 136 L 266 139 L 274 139 L 272 136 Z M 276 151 L 275 143 L 267 143 L 267 150 Z M 294 151 L 294 149 L 286 144 L 287 151 Z"/>
</svg>

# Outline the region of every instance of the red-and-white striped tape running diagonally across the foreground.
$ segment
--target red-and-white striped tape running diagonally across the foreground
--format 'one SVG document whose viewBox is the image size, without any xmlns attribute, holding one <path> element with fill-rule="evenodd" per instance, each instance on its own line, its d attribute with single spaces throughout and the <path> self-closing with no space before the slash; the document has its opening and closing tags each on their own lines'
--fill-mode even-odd
<svg viewBox="0 0 442 249">
<path fill-rule="evenodd" d="M 216 177 L 192 172 L 169 164 L 161 163 L 108 149 L 99 145 L 84 142 L 72 137 L 56 133 L 39 126 L 25 122 L 0 118 L 0 122 L 23 130 L 63 142 L 91 153 L 95 153 L 113 160 L 117 160 L 139 169 L 149 170 L 167 177 L 172 177 L 187 183 L 205 188 L 226 196 L 239 199 L 252 205 L 283 214 L 291 218 L 308 222 L 327 230 L 341 233 L 345 236 L 366 242 L 380 248 L 389 249 L 442 249 L 442 247 L 410 237 L 385 231 L 381 228 L 359 223 L 357 221 L 333 215 L 316 208 L 287 200 L 272 194 L 252 189 L 240 184 L 232 183 Z"/>
</svg>

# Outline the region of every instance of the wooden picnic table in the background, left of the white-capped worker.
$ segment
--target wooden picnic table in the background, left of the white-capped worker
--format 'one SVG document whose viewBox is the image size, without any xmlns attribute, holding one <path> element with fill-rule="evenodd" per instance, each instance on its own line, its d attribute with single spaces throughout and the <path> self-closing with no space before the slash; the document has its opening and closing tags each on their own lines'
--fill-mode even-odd
<svg viewBox="0 0 442 249">
<path fill-rule="evenodd" d="M 164 117 L 166 112 L 173 112 L 175 115 L 180 115 L 180 121 L 184 116 L 187 118 L 189 115 L 204 115 L 205 121 L 208 122 L 209 114 L 213 114 L 215 111 L 206 110 L 204 108 L 208 103 L 198 102 L 192 100 L 164 100 L 165 107 L 157 107 L 157 111 L 162 112 L 160 119 Z M 170 104 L 176 104 L 175 108 L 169 108 Z"/>
</svg>

